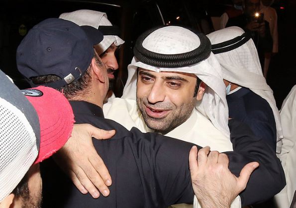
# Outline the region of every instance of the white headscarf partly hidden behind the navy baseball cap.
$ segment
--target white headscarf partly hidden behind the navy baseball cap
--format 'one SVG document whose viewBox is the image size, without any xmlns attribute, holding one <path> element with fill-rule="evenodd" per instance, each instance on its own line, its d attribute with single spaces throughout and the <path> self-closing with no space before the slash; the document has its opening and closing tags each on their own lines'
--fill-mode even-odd
<svg viewBox="0 0 296 208">
<path fill-rule="evenodd" d="M 72 21 L 79 26 L 89 25 L 96 29 L 98 29 L 99 26 L 112 26 L 111 22 L 107 19 L 106 13 L 88 9 L 62 13 L 59 18 Z M 123 44 L 124 41 L 117 35 L 104 35 L 104 39 L 99 43 L 98 53 L 103 53 L 112 43 L 114 43 L 115 46 L 119 46 Z"/>
</svg>

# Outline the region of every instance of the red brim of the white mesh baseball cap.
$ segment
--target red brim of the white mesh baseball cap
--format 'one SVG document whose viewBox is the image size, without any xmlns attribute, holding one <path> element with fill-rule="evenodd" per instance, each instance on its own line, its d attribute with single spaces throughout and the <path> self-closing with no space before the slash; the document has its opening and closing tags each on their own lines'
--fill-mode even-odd
<svg viewBox="0 0 296 208">
<path fill-rule="evenodd" d="M 35 108 L 40 123 L 40 149 L 34 164 L 59 150 L 70 138 L 74 114 L 65 96 L 50 87 L 21 90 Z"/>
</svg>

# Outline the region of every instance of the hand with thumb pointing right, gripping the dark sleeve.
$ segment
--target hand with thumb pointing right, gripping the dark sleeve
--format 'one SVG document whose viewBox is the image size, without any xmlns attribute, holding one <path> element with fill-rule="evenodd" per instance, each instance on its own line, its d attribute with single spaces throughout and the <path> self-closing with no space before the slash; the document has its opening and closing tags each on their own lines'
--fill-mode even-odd
<svg viewBox="0 0 296 208">
<path fill-rule="evenodd" d="M 224 153 L 209 151 L 204 147 L 197 153 L 193 146 L 189 154 L 192 186 L 202 208 L 229 208 L 236 196 L 247 185 L 257 162 L 243 167 L 237 178 L 228 169 L 228 157 Z"/>
</svg>

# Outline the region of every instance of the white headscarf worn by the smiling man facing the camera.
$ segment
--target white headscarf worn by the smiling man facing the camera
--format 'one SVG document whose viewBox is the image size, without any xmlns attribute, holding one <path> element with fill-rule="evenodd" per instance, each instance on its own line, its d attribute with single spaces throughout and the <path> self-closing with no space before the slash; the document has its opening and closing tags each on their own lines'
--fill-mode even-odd
<svg viewBox="0 0 296 208">
<path fill-rule="evenodd" d="M 195 33 L 179 26 L 167 26 L 157 29 L 148 35 L 142 43 L 145 49 L 159 54 L 182 54 L 193 51 L 199 45 L 200 40 Z M 136 99 L 136 71 L 138 67 L 157 72 L 176 71 L 196 74 L 208 86 L 201 103 L 196 103 L 196 108 L 209 118 L 219 131 L 229 137 L 225 85 L 220 65 L 212 53 L 207 59 L 182 68 L 154 67 L 139 62 L 134 57 L 131 64 L 128 65 L 128 78 L 123 89 L 122 98 Z"/>
</svg>

